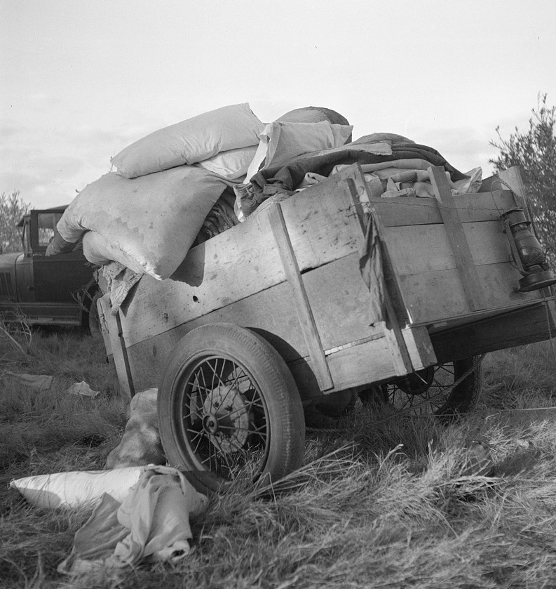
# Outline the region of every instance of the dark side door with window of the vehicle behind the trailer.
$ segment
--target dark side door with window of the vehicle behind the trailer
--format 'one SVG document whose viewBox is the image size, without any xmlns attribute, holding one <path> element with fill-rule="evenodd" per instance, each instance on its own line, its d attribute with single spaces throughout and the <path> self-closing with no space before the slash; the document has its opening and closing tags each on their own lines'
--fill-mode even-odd
<svg viewBox="0 0 556 589">
<path fill-rule="evenodd" d="M 76 303 L 77 293 L 93 277 L 83 249 L 45 256 L 63 211 L 31 211 L 31 246 L 36 303 Z"/>
</svg>

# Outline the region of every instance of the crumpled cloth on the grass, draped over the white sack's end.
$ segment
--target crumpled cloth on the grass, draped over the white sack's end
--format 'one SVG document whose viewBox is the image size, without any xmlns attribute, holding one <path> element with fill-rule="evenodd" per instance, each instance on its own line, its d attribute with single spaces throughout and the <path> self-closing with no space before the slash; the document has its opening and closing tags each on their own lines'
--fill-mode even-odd
<svg viewBox="0 0 556 589">
<path fill-rule="evenodd" d="M 201 515 L 208 498 L 182 472 L 165 466 L 142 468 L 125 498 L 105 494 L 76 532 L 71 554 L 58 572 L 88 581 L 118 577 L 140 562 L 172 561 L 189 554 L 189 517 Z"/>
</svg>

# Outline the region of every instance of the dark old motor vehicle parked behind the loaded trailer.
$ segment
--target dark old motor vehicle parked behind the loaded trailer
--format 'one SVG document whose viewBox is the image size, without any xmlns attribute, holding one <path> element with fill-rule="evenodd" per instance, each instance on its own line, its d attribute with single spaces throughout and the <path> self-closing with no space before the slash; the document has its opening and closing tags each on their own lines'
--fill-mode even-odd
<svg viewBox="0 0 556 589">
<path fill-rule="evenodd" d="M 98 331 L 95 268 L 83 250 L 45 256 L 65 206 L 33 210 L 18 223 L 22 251 L 0 255 L 0 316 L 28 325 Z"/>
</svg>

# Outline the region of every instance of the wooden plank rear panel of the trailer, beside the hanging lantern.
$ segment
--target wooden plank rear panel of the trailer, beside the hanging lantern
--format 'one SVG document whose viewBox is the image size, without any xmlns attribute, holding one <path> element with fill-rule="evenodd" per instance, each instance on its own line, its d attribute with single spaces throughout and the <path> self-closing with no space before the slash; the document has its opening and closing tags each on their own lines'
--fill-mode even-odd
<svg viewBox="0 0 556 589">
<path fill-rule="evenodd" d="M 446 186 L 437 190 L 445 196 L 438 205 L 433 199 L 399 199 L 390 206 L 370 201 L 385 225 L 382 237 L 412 323 L 449 324 L 461 317 L 473 322 L 481 312 L 494 315 L 541 300 L 540 291 L 515 291 L 521 274 L 510 262 L 510 244 L 501 223 L 501 213 L 517 206 L 513 194 L 447 198 Z M 400 206 L 400 201 L 407 205 Z M 403 212 L 396 214 L 396 207 Z"/>
</svg>

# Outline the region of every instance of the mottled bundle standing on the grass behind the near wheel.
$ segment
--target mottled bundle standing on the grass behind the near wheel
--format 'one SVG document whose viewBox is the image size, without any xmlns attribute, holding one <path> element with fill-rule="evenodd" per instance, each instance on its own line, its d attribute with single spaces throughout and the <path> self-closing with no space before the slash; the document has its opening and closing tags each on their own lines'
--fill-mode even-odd
<svg viewBox="0 0 556 589">
<path fill-rule="evenodd" d="M 107 456 L 106 468 L 166 463 L 158 433 L 157 397 L 156 388 L 133 395 L 126 430 L 121 442 Z"/>
</svg>

